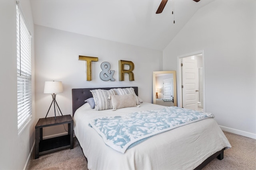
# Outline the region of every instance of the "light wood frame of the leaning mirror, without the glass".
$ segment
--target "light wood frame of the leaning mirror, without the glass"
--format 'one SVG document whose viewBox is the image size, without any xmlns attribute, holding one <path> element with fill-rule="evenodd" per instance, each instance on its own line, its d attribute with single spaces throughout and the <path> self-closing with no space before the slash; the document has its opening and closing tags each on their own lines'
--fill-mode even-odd
<svg viewBox="0 0 256 170">
<path fill-rule="evenodd" d="M 173 104 L 177 106 L 176 71 L 153 71 L 153 104 L 156 104 L 156 74 L 173 74 Z"/>
</svg>

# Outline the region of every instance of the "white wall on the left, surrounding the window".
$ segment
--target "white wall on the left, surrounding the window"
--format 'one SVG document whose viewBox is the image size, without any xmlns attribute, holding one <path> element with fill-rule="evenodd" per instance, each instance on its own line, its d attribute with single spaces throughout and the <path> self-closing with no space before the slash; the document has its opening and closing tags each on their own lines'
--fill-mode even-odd
<svg viewBox="0 0 256 170">
<path fill-rule="evenodd" d="M 34 24 L 29 0 L 20 0 L 20 6 L 32 35 Z M 16 56 L 16 0 L 0 1 L 0 169 L 23 169 L 34 143 L 35 109 L 32 121 L 18 135 L 17 125 L 17 56 Z M 32 37 L 32 62 L 34 38 Z M 34 64 L 32 63 L 32 66 Z M 34 73 L 32 73 L 34 81 Z M 34 83 L 32 82 L 34 90 Z M 34 91 L 32 92 L 34 100 Z"/>
</svg>

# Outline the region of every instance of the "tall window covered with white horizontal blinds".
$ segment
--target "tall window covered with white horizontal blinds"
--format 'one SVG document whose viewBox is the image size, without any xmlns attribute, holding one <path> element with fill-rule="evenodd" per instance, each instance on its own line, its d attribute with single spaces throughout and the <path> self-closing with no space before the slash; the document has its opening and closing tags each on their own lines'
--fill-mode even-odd
<svg viewBox="0 0 256 170">
<path fill-rule="evenodd" d="M 31 35 L 17 5 L 18 129 L 31 117 Z"/>
</svg>

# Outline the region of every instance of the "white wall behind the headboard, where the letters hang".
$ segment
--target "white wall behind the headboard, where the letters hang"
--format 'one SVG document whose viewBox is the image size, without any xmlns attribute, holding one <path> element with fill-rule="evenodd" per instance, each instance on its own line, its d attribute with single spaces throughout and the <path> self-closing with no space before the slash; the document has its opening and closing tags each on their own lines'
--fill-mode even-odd
<svg viewBox="0 0 256 170">
<path fill-rule="evenodd" d="M 35 45 L 37 119 L 45 117 L 52 101 L 49 94 L 43 93 L 45 81 L 62 81 L 64 92 L 57 94 L 56 100 L 63 115 L 72 115 L 72 88 L 138 86 L 139 97 L 152 102 L 152 72 L 162 69 L 162 51 L 40 25 L 35 25 Z M 92 62 L 92 81 L 86 81 L 86 62 L 79 61 L 79 55 L 98 57 L 98 62 Z M 125 81 L 118 80 L 119 60 L 134 63 L 135 81 L 129 81 L 128 75 L 125 75 Z M 100 79 L 100 64 L 105 61 L 111 64 L 111 70 L 115 70 L 116 81 Z M 54 111 L 49 113 L 50 116 L 54 116 Z M 48 136 L 64 132 L 64 128 L 49 128 L 44 132 L 43 135 Z"/>
</svg>

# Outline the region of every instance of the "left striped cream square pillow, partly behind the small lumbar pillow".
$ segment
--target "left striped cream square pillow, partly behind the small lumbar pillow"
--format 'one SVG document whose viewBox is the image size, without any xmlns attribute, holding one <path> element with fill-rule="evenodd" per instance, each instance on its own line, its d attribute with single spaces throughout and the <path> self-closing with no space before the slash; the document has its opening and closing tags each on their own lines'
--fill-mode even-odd
<svg viewBox="0 0 256 170">
<path fill-rule="evenodd" d="M 96 90 L 90 90 L 90 92 L 92 92 L 92 96 L 94 98 L 95 110 L 98 111 L 98 110 L 106 110 L 106 109 L 113 108 L 111 100 L 108 99 L 108 96 L 116 95 L 115 90 L 96 89 Z"/>
</svg>

